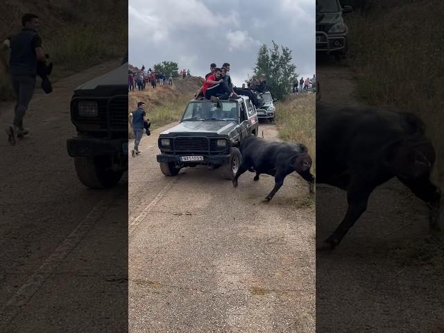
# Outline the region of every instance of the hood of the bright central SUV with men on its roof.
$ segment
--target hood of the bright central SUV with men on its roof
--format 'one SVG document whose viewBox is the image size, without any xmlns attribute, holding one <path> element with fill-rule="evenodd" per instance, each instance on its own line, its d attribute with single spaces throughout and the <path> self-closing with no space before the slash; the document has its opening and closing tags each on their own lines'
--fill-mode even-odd
<svg viewBox="0 0 444 333">
<path fill-rule="evenodd" d="M 177 126 L 165 130 L 160 135 L 178 136 L 178 135 L 229 135 L 238 125 L 234 121 L 183 121 Z"/>
</svg>

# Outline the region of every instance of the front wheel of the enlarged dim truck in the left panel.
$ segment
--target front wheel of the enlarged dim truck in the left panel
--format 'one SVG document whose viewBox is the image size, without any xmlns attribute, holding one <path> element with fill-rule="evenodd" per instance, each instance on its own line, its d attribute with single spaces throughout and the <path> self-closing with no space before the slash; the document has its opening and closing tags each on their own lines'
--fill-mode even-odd
<svg viewBox="0 0 444 333">
<path fill-rule="evenodd" d="M 74 157 L 77 177 L 92 189 L 109 189 L 119 182 L 123 171 L 113 171 L 111 156 Z"/>
</svg>

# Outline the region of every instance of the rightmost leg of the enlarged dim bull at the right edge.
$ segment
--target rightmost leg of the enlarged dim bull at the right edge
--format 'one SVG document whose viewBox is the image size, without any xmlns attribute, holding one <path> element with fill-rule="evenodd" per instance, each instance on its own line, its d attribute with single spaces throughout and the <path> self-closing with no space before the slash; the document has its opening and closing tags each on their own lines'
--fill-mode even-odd
<svg viewBox="0 0 444 333">
<path fill-rule="evenodd" d="M 399 180 L 403 182 L 404 185 L 409 187 L 413 194 L 427 203 L 430 209 L 430 228 L 439 230 L 439 218 L 441 213 L 441 189 L 436 187 L 436 185 L 434 185 L 434 183 L 430 181 L 429 177 L 409 180 L 399 178 Z"/>
</svg>

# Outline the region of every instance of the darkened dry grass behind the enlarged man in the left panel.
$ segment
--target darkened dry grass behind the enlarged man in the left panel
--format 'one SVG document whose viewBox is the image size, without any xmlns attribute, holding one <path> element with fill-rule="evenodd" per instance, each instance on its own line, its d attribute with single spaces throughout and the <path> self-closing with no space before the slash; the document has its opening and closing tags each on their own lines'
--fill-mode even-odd
<svg viewBox="0 0 444 333">
<path fill-rule="evenodd" d="M 17 33 L 24 12 L 40 18 L 44 52 L 54 64 L 51 80 L 65 78 L 114 58 L 123 58 L 128 47 L 128 1 L 86 0 L 6 1 L 7 17 L 0 19 L 0 39 Z M 38 86 L 38 84 L 37 84 Z M 0 68 L 0 100 L 12 99 L 6 71 Z"/>
</svg>

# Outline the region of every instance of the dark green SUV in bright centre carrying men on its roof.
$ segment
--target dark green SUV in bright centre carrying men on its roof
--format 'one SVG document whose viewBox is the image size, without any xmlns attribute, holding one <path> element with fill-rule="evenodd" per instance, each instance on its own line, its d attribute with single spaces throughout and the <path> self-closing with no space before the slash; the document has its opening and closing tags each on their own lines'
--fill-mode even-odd
<svg viewBox="0 0 444 333">
<path fill-rule="evenodd" d="M 232 179 L 241 162 L 241 140 L 257 136 L 258 129 L 255 106 L 246 96 L 218 103 L 189 101 L 180 123 L 160 134 L 157 162 L 165 176 L 203 164 L 221 167 L 222 176 Z"/>
</svg>

